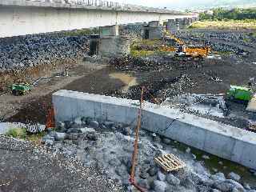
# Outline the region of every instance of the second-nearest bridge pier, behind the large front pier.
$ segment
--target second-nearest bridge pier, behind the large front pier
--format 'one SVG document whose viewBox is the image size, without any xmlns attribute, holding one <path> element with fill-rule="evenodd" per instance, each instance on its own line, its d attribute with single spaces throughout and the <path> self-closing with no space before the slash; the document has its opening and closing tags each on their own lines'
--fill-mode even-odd
<svg viewBox="0 0 256 192">
<path fill-rule="evenodd" d="M 144 26 L 143 38 L 151 40 L 162 39 L 162 27 L 159 25 L 159 21 L 152 21 L 147 26 Z"/>
</svg>

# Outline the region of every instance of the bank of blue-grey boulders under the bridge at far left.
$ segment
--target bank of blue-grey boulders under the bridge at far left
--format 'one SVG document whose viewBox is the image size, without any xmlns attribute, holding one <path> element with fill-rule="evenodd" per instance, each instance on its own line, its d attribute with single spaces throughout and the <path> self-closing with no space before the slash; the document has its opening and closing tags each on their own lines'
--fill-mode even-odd
<svg viewBox="0 0 256 192">
<path fill-rule="evenodd" d="M 86 36 L 62 33 L 0 38 L 0 71 L 82 58 L 88 53 L 88 43 Z"/>
</svg>

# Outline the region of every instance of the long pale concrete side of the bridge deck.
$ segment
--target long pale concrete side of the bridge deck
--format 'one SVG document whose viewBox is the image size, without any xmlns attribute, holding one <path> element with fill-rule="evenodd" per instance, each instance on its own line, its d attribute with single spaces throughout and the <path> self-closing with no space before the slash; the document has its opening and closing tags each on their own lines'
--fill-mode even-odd
<svg viewBox="0 0 256 192">
<path fill-rule="evenodd" d="M 184 17 L 192 18 L 195 14 L 0 0 L 0 38 Z"/>
</svg>

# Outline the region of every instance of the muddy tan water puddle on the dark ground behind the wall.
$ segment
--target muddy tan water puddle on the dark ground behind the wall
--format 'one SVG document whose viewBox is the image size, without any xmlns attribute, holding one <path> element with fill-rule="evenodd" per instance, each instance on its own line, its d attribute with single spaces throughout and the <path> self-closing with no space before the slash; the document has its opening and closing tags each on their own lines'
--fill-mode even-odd
<svg viewBox="0 0 256 192">
<path fill-rule="evenodd" d="M 125 74 L 125 73 L 112 73 L 110 74 L 110 78 L 116 78 L 122 81 L 123 83 L 126 84 L 126 86 L 122 87 L 122 91 L 126 93 L 131 86 L 137 86 L 137 78 L 134 78 L 130 74 Z"/>
</svg>

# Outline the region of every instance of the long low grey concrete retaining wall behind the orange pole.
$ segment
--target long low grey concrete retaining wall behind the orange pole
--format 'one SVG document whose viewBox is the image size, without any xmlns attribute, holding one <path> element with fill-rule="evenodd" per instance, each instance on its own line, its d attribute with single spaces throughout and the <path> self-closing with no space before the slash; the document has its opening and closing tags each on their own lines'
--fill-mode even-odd
<svg viewBox="0 0 256 192">
<path fill-rule="evenodd" d="M 135 125 L 138 115 L 137 101 L 70 90 L 54 93 L 53 103 L 56 121 L 85 116 Z M 149 102 L 143 107 L 142 127 L 256 169 L 256 134 L 246 130 Z"/>
</svg>

